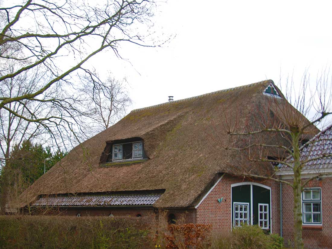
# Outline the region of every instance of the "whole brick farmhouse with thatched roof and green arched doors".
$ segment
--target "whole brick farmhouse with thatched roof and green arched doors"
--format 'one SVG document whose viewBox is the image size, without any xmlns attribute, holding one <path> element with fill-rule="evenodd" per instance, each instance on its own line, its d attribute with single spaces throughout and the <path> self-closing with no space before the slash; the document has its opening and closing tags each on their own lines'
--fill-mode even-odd
<svg viewBox="0 0 332 249">
<path fill-rule="evenodd" d="M 186 222 L 212 224 L 220 232 L 258 224 L 291 244 L 291 188 L 242 174 L 270 176 L 277 171 L 278 177 L 291 181 L 291 172 L 249 160 L 248 151 L 225 149 L 248 143 L 245 136 L 232 138 L 229 127 L 259 128 L 259 119 L 277 117 L 279 106 L 297 112 L 273 81 L 266 80 L 133 110 L 72 149 L 20 196 L 16 207 L 77 216 L 147 216 L 164 209 L 170 222 L 185 215 Z M 331 133 L 331 128 L 322 133 L 310 128 L 304 142 Z M 256 138 L 290 147 L 280 132 Z M 324 141 L 323 147 L 331 149 Z M 312 151 L 318 153 L 306 153 Z M 264 158 L 287 157 L 276 149 L 261 152 Z M 332 159 L 326 160 L 318 162 L 319 169 L 332 171 Z M 317 167 L 311 165 L 303 177 L 315 173 Z M 332 181 L 327 176 L 313 179 L 302 195 L 305 246 L 328 248 Z"/>
</svg>

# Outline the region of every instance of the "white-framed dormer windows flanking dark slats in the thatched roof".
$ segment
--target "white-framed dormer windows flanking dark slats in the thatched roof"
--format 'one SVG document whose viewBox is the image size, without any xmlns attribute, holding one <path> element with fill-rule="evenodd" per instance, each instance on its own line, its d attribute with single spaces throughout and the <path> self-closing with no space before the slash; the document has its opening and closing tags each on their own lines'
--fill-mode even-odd
<svg viewBox="0 0 332 249">
<path fill-rule="evenodd" d="M 132 144 L 131 149 L 131 158 L 123 159 L 123 145 L 124 144 Z M 142 159 L 143 158 L 143 141 L 136 142 L 127 142 L 127 143 L 118 143 L 114 144 L 112 147 L 112 161 L 124 161 L 124 160 L 132 160 L 132 159 Z"/>
</svg>

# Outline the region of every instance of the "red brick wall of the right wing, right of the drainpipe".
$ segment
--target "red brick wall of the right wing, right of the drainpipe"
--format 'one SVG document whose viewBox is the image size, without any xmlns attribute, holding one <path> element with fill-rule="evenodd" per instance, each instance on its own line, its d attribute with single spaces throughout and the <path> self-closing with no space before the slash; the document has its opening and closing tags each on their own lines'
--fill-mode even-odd
<svg viewBox="0 0 332 249">
<path fill-rule="evenodd" d="M 310 187 L 321 187 L 322 194 L 322 227 L 308 228 L 303 226 L 302 239 L 307 248 L 332 248 L 332 178 L 314 181 Z M 285 245 L 293 245 L 294 236 L 293 192 L 283 184 L 283 237 Z"/>
</svg>

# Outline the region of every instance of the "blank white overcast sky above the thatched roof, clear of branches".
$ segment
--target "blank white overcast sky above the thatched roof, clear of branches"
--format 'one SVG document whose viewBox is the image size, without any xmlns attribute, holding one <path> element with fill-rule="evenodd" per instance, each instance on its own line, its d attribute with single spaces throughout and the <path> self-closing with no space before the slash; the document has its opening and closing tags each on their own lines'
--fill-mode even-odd
<svg viewBox="0 0 332 249">
<path fill-rule="evenodd" d="M 130 84 L 132 109 L 246 85 L 305 69 L 315 83 L 331 65 L 332 1 L 168 0 L 156 29 L 176 35 L 162 48 L 124 46 L 129 62 L 94 59 Z M 112 59 L 111 59 L 112 58 Z M 130 110 L 128 110 L 130 111 Z"/>
</svg>

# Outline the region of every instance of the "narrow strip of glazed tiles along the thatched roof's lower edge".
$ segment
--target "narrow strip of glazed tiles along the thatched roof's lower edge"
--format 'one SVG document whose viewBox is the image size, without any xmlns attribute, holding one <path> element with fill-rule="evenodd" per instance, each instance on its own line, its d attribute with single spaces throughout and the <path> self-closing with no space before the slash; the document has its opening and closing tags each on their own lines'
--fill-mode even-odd
<svg viewBox="0 0 332 249">
<path fill-rule="evenodd" d="M 34 207 L 69 207 L 69 206 L 137 206 L 153 205 L 161 196 L 158 194 L 128 194 L 103 196 L 60 196 L 42 197 Z"/>
</svg>

